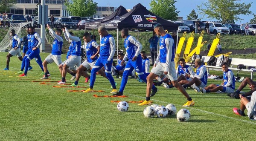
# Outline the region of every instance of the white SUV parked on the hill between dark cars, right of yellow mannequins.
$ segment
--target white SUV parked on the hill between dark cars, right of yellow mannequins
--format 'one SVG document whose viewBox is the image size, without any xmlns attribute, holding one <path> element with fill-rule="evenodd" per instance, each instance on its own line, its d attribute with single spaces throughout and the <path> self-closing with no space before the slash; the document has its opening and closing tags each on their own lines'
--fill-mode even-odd
<svg viewBox="0 0 256 141">
<path fill-rule="evenodd" d="M 229 34 L 230 29 L 228 29 L 224 24 L 222 23 L 213 23 L 213 22 L 208 22 L 209 23 L 209 31 L 210 33 L 213 33 L 214 35 L 220 33 L 220 34 Z"/>
</svg>

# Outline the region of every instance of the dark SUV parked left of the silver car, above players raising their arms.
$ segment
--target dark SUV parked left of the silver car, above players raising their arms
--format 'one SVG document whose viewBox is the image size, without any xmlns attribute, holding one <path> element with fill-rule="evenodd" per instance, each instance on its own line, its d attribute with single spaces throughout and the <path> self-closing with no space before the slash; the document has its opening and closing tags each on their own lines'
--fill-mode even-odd
<svg viewBox="0 0 256 141">
<path fill-rule="evenodd" d="M 72 19 L 68 17 L 59 17 L 58 20 L 56 20 L 56 28 L 64 28 L 64 27 L 67 27 L 67 29 L 76 29 L 77 26 Z"/>
</svg>

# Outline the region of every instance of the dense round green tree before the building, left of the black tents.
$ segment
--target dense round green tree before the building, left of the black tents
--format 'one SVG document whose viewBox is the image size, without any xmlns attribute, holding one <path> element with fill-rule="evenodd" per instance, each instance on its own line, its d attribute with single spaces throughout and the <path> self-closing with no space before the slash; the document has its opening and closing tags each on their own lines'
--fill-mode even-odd
<svg viewBox="0 0 256 141">
<path fill-rule="evenodd" d="M 96 13 L 98 3 L 93 3 L 93 0 L 72 0 L 67 2 L 67 11 L 73 16 L 88 17 Z"/>
</svg>

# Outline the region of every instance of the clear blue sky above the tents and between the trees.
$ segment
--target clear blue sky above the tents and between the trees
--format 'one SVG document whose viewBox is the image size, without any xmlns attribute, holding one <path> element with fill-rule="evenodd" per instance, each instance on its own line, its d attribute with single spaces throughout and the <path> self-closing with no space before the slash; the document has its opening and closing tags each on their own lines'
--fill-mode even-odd
<svg viewBox="0 0 256 141">
<path fill-rule="evenodd" d="M 143 6 L 145 6 L 148 10 L 150 9 L 149 3 L 151 0 L 93 0 L 94 2 L 98 3 L 98 6 L 113 6 L 113 7 L 119 7 L 123 6 L 126 9 L 132 9 L 133 6 L 135 6 L 138 3 L 141 3 Z M 175 7 L 177 8 L 177 11 L 180 11 L 178 15 L 180 17 L 183 17 L 183 20 L 186 20 L 186 15 L 190 14 L 191 11 L 194 9 L 195 12 L 198 14 L 197 6 L 201 5 L 202 2 L 207 2 L 208 0 L 177 0 L 175 3 Z M 256 1 L 254 0 L 241 0 L 240 2 L 244 2 L 246 4 L 252 2 L 252 6 L 250 8 L 250 11 L 252 13 L 256 14 L 256 9 L 253 7 L 256 7 Z M 240 24 L 241 23 L 249 23 L 250 19 L 253 19 L 254 16 L 251 15 L 239 15 L 241 21 L 235 21 L 235 23 Z M 201 20 L 211 20 L 203 18 L 203 15 L 198 14 L 198 18 L 201 18 Z M 216 19 L 212 19 L 216 20 Z"/>
</svg>

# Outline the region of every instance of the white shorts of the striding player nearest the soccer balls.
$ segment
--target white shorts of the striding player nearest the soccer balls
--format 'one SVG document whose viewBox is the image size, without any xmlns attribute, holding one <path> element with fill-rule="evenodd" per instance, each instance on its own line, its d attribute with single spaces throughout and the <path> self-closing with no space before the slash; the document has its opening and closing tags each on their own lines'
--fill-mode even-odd
<svg viewBox="0 0 256 141">
<path fill-rule="evenodd" d="M 161 75 L 164 74 L 165 66 L 166 66 L 166 63 L 160 63 L 159 62 L 159 63 L 157 63 L 156 67 L 153 67 L 151 69 L 151 72 L 158 75 L 158 76 L 161 76 Z M 168 77 L 170 78 L 171 81 L 177 80 L 174 61 L 172 61 L 170 63 L 169 70 L 168 70 Z"/>
</svg>

